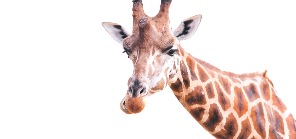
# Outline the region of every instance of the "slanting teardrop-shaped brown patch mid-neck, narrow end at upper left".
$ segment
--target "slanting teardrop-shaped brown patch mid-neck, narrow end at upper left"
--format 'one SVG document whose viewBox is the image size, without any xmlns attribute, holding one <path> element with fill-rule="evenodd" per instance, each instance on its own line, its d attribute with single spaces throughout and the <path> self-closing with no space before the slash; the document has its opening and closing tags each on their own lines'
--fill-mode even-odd
<svg viewBox="0 0 296 139">
<path fill-rule="evenodd" d="M 230 101 L 224 94 L 224 92 L 221 90 L 219 84 L 215 82 L 217 94 L 218 94 L 218 101 L 224 111 L 226 111 L 228 108 L 230 108 Z"/>
</svg>

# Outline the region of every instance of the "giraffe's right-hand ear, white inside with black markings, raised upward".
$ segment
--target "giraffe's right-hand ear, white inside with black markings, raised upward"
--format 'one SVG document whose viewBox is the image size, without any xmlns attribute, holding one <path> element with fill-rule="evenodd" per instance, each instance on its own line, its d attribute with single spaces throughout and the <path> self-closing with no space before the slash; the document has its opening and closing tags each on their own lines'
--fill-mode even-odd
<svg viewBox="0 0 296 139">
<path fill-rule="evenodd" d="M 183 20 L 179 27 L 173 31 L 173 35 L 179 40 L 189 39 L 196 32 L 201 19 L 202 15 L 196 15 Z"/>
</svg>

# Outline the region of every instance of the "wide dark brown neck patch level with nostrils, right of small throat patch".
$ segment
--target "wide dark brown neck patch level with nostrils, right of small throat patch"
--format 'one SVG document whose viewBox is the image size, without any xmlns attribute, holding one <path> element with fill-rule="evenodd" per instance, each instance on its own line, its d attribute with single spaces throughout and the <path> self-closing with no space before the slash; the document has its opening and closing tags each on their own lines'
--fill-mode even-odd
<svg viewBox="0 0 296 139">
<path fill-rule="evenodd" d="M 185 96 L 185 100 L 188 105 L 195 105 L 195 104 L 204 105 L 207 103 L 202 86 L 195 87 L 194 90 L 192 90 L 192 92 L 188 93 Z"/>
</svg>

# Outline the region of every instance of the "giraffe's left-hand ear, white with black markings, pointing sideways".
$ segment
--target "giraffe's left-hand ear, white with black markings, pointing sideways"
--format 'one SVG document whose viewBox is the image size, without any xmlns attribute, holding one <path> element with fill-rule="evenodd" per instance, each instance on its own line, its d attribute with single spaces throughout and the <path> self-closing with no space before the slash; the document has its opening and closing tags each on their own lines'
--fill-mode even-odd
<svg viewBox="0 0 296 139">
<path fill-rule="evenodd" d="M 119 43 L 122 43 L 123 39 L 130 35 L 121 25 L 116 23 L 103 22 L 102 26 Z"/>
</svg>

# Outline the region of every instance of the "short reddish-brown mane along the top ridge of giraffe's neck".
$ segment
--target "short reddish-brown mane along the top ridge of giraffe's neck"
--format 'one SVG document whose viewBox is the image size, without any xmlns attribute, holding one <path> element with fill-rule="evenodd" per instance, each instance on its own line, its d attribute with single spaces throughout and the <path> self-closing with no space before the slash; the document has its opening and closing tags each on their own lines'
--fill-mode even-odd
<svg viewBox="0 0 296 139">
<path fill-rule="evenodd" d="M 184 52 L 186 52 L 181 46 L 180 46 L 180 49 Z M 187 52 L 186 52 L 187 53 Z M 192 56 L 190 53 L 187 53 L 189 57 L 193 58 L 194 60 L 196 60 L 199 64 L 201 64 L 202 66 L 204 66 L 205 68 L 211 70 L 211 71 L 214 71 L 214 72 L 217 72 L 221 75 L 225 75 L 225 76 L 228 76 L 228 77 L 232 77 L 232 78 L 240 78 L 240 79 L 247 79 L 247 78 L 254 78 L 254 77 L 263 77 L 265 78 L 266 80 L 268 80 L 268 82 L 271 83 L 271 85 L 274 87 L 272 81 L 267 77 L 267 69 L 265 69 L 264 72 L 252 72 L 252 73 L 243 73 L 243 74 L 236 74 L 236 73 L 233 73 L 233 72 L 227 72 L 227 71 L 222 71 L 221 69 L 213 66 L 212 64 L 208 63 L 208 62 L 205 62 L 204 60 L 201 60 L 201 59 L 198 59 L 194 56 Z"/>
</svg>

